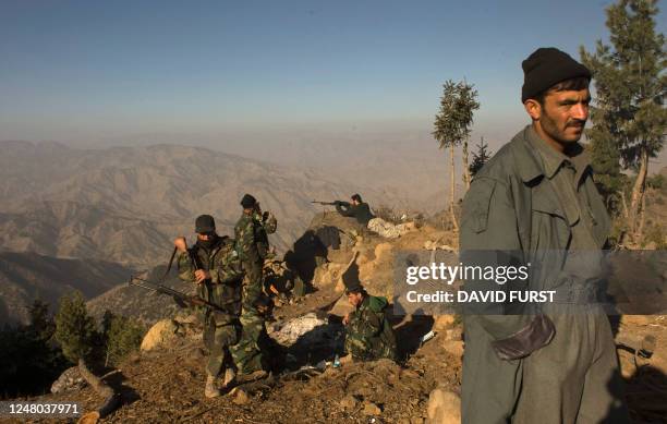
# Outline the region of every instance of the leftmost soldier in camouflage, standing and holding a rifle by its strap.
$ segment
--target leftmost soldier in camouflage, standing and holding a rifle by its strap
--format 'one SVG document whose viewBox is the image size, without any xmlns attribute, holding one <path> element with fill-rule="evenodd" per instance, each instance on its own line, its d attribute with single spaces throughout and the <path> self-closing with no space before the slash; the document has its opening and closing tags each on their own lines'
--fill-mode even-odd
<svg viewBox="0 0 667 424">
<path fill-rule="evenodd" d="M 195 282 L 199 298 L 220 306 L 220 310 L 197 306 L 197 315 L 204 323 L 204 343 L 210 352 L 204 393 L 207 398 L 215 398 L 220 396 L 216 378 L 222 368 L 226 368 L 223 387 L 234 379 L 229 348 L 239 341 L 241 332 L 239 315 L 243 269 L 233 240 L 216 233 L 211 216 L 199 216 L 195 231 L 197 242 L 191 249 L 187 249 L 184 238 L 177 239 L 174 244 L 179 251 L 179 277 Z"/>
</svg>

